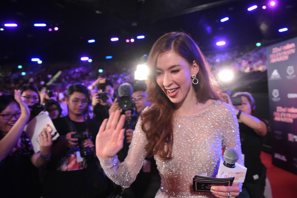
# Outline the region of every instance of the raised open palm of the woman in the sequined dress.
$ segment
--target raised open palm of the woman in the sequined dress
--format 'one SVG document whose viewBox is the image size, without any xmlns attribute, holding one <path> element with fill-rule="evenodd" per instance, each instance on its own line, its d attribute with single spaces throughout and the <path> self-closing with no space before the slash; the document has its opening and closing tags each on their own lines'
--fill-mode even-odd
<svg viewBox="0 0 297 198">
<path fill-rule="evenodd" d="M 96 136 L 96 156 L 110 158 L 115 156 L 122 148 L 124 141 L 125 115 L 120 116 L 119 110 L 113 112 L 109 119 L 105 119 Z"/>
</svg>

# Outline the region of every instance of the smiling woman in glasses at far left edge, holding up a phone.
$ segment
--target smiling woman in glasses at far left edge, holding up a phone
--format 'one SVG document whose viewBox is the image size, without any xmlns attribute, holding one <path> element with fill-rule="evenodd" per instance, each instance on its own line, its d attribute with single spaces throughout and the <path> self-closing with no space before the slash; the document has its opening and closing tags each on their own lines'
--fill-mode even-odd
<svg viewBox="0 0 297 198">
<path fill-rule="evenodd" d="M 40 152 L 34 153 L 30 137 L 24 132 L 30 110 L 15 96 L 0 96 L 0 186 L 1 197 L 40 197 L 38 169 L 49 160 L 52 139 L 42 130 Z"/>
</svg>

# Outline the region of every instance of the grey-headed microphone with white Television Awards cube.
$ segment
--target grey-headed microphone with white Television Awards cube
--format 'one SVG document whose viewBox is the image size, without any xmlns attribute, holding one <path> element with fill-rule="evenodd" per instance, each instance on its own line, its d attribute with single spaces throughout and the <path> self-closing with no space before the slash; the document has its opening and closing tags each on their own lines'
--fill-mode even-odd
<svg viewBox="0 0 297 198">
<path fill-rule="evenodd" d="M 227 148 L 221 157 L 217 178 L 235 177 L 234 182 L 244 182 L 247 168 L 237 162 L 238 152 L 233 148 Z"/>
</svg>

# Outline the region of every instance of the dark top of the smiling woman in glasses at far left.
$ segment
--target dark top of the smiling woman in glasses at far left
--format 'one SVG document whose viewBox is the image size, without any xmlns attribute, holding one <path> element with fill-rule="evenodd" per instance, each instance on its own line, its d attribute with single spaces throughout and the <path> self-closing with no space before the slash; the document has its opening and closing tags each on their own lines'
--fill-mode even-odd
<svg viewBox="0 0 297 198">
<path fill-rule="evenodd" d="M 15 152 L 0 162 L 0 196 L 40 197 L 38 169 L 31 162 L 34 152 L 29 135 L 23 132 L 18 145 Z"/>
</svg>

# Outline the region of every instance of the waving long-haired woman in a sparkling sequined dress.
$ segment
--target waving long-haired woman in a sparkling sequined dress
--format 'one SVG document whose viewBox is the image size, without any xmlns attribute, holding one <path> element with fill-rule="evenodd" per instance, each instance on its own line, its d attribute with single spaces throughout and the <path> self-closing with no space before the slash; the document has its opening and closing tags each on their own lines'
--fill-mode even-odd
<svg viewBox="0 0 297 198">
<path fill-rule="evenodd" d="M 185 33 L 165 34 L 153 45 L 147 64 L 151 105 L 141 114 L 123 163 L 116 153 L 123 147 L 125 116 L 112 113 L 97 134 L 96 155 L 106 175 L 129 187 L 144 157 L 154 156 L 161 176 L 157 198 L 237 196 L 239 183 L 212 187 L 212 193 L 192 190 L 196 174 L 216 177 L 222 148 L 241 155 L 235 113 L 219 100 L 196 43 Z"/>
</svg>

